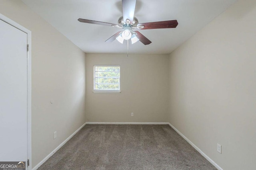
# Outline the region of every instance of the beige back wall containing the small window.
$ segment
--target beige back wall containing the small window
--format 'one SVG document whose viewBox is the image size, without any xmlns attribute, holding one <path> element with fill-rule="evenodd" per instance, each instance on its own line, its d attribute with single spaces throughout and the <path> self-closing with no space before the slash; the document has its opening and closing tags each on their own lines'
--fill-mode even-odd
<svg viewBox="0 0 256 170">
<path fill-rule="evenodd" d="M 166 122 L 168 62 L 168 55 L 87 54 L 86 122 Z M 98 64 L 120 65 L 120 94 L 92 92 Z"/>
</svg>

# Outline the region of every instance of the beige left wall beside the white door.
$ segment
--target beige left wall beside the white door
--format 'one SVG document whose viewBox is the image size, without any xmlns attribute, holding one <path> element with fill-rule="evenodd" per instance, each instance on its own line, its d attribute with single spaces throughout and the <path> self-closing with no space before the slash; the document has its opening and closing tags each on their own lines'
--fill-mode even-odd
<svg viewBox="0 0 256 170">
<path fill-rule="evenodd" d="M 85 53 L 21 1 L 0 4 L 1 14 L 32 31 L 34 167 L 85 123 Z"/>
</svg>

